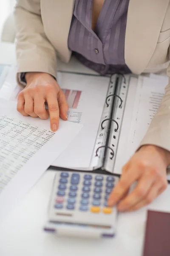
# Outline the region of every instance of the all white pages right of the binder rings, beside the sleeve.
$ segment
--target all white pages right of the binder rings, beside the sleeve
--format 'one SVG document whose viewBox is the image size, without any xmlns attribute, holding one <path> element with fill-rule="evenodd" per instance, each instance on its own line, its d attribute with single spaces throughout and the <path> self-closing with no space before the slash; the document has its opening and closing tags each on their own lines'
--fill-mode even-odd
<svg viewBox="0 0 170 256">
<path fill-rule="evenodd" d="M 156 75 L 150 78 L 141 76 L 137 84 L 130 84 L 114 173 L 122 173 L 122 166 L 141 143 L 159 108 L 167 84 L 166 76 Z"/>
</svg>

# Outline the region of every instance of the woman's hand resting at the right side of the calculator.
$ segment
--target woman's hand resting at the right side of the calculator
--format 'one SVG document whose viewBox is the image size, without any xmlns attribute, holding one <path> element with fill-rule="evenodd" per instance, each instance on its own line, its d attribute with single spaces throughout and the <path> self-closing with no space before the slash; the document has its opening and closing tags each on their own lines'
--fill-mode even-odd
<svg viewBox="0 0 170 256">
<path fill-rule="evenodd" d="M 108 205 L 118 203 L 119 211 L 134 211 L 153 201 L 167 188 L 167 166 L 170 152 L 154 145 L 144 145 L 125 164 L 122 176 L 108 199 Z M 127 195 L 130 186 L 136 187 Z"/>
</svg>

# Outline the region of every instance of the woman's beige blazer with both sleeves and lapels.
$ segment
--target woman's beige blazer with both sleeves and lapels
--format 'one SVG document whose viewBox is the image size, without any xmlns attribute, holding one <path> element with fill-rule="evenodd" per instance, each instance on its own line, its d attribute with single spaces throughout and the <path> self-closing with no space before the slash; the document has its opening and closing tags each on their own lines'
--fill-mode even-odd
<svg viewBox="0 0 170 256">
<path fill-rule="evenodd" d="M 46 72 L 54 77 L 57 57 L 68 62 L 68 33 L 75 0 L 17 0 L 18 72 Z M 170 0 L 130 0 L 125 62 L 135 74 L 154 72 L 170 59 Z M 170 76 L 170 67 L 167 70 Z M 170 151 L 170 84 L 142 144 Z"/>
</svg>

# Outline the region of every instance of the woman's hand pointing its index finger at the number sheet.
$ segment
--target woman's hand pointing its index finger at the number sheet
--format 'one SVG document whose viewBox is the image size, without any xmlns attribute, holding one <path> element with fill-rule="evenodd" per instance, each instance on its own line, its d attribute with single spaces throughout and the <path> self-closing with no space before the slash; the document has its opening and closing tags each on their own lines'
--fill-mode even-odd
<svg viewBox="0 0 170 256">
<path fill-rule="evenodd" d="M 57 81 L 48 73 L 26 73 L 26 87 L 19 93 L 17 111 L 23 116 L 47 119 L 50 115 L 51 130 L 57 131 L 59 116 L 67 120 L 68 105 Z M 45 102 L 48 110 L 45 109 Z"/>
</svg>

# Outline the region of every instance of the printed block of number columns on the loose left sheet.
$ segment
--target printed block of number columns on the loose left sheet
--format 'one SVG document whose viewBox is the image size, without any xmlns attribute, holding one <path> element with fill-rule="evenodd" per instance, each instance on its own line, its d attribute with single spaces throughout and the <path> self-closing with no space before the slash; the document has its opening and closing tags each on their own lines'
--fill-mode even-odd
<svg viewBox="0 0 170 256">
<path fill-rule="evenodd" d="M 0 116 L 0 192 L 54 135 L 20 119 Z"/>
</svg>

